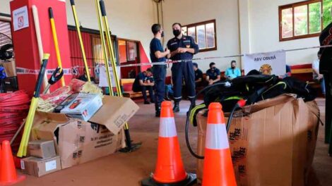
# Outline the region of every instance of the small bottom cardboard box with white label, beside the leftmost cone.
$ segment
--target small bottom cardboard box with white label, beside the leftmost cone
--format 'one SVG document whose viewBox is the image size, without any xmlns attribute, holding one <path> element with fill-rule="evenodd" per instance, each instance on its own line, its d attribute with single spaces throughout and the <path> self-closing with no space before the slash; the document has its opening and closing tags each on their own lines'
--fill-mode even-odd
<svg viewBox="0 0 332 186">
<path fill-rule="evenodd" d="M 39 159 L 30 156 L 22 159 L 20 164 L 23 173 L 37 177 L 61 170 L 60 156 L 55 156 L 50 159 Z"/>
</svg>

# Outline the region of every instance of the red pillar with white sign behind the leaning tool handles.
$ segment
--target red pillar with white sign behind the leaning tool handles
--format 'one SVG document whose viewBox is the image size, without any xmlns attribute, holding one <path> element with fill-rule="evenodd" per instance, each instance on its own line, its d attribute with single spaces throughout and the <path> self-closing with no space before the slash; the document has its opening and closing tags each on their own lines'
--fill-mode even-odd
<svg viewBox="0 0 332 186">
<path fill-rule="evenodd" d="M 66 1 L 14 0 L 11 1 L 10 4 L 16 68 L 28 69 L 28 72 L 18 73 L 18 88 L 24 89 L 29 94 L 32 94 L 35 89 L 35 83 L 38 75 L 36 73 L 31 73 L 31 70 L 40 70 L 40 59 L 37 46 L 37 37 L 35 34 L 35 24 L 32 16 L 32 5 L 35 5 L 38 9 L 44 53 L 50 54 L 47 69 L 54 69 L 58 66 L 54 48 L 54 40 L 52 37 L 51 23 L 49 21 L 49 7 L 52 7 L 53 9 L 62 67 L 66 69 L 71 68 L 69 34 L 66 18 Z M 25 6 L 28 12 L 25 15 L 27 15 L 28 20 L 25 16 L 18 15 L 20 11 L 17 11 L 19 8 L 24 9 Z M 13 11 L 15 11 L 16 15 L 14 15 Z M 26 27 L 27 23 L 28 27 Z M 21 27 L 21 29 L 17 30 L 18 27 Z M 64 78 L 67 85 L 70 82 L 72 75 L 67 73 L 64 75 Z M 60 81 L 57 82 L 56 85 L 52 85 L 51 90 L 59 87 L 61 87 Z"/>
</svg>

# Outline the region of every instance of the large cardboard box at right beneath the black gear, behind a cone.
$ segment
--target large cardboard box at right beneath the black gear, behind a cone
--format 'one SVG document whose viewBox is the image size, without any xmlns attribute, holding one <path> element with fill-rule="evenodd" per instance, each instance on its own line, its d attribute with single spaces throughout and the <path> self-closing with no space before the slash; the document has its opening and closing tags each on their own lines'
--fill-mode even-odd
<svg viewBox="0 0 332 186">
<path fill-rule="evenodd" d="M 200 156 L 205 149 L 204 112 L 196 116 Z M 305 185 L 316 148 L 317 116 L 316 102 L 287 94 L 235 113 L 228 138 L 237 185 Z M 202 177 L 203 160 L 198 160 L 197 178 Z"/>
</svg>

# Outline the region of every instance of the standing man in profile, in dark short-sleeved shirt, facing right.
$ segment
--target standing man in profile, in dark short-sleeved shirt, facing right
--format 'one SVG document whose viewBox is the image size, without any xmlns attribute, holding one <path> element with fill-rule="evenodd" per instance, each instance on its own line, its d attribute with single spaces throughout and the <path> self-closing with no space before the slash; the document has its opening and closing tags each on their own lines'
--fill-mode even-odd
<svg viewBox="0 0 332 186">
<path fill-rule="evenodd" d="M 159 24 L 154 24 L 151 27 L 153 32 L 153 39 L 150 42 L 150 59 L 152 63 L 166 61 L 166 56 L 170 57 L 170 50 L 162 48 L 160 39 L 164 37 L 164 31 Z M 165 97 L 165 77 L 166 65 L 153 66 L 153 77 L 155 79 L 155 116 L 160 117 L 161 102 Z"/>
</svg>

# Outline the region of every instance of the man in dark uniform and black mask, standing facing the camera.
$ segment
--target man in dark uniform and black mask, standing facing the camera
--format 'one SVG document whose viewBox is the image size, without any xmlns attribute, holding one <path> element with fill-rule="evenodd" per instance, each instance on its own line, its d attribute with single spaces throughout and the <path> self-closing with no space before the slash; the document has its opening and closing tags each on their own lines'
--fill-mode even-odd
<svg viewBox="0 0 332 186">
<path fill-rule="evenodd" d="M 191 59 L 198 53 L 198 45 L 194 38 L 182 34 L 180 23 L 172 25 L 174 38 L 167 42 L 172 60 L 188 60 L 181 63 L 173 63 L 172 80 L 174 84 L 174 112 L 179 112 L 179 101 L 182 99 L 182 78 L 186 85 L 191 106 L 195 106 L 195 73 Z"/>
</svg>

